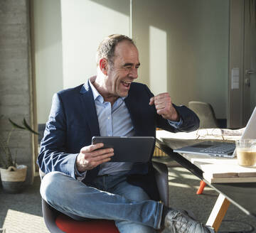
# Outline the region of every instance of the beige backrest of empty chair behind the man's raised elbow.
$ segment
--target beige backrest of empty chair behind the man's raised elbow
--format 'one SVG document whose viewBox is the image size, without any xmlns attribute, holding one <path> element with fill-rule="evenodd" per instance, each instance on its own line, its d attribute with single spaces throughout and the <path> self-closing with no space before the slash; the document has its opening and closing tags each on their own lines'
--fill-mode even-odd
<svg viewBox="0 0 256 233">
<path fill-rule="evenodd" d="M 191 101 L 188 107 L 198 115 L 200 128 L 218 128 L 218 121 L 215 117 L 213 107 L 206 102 Z"/>
</svg>

